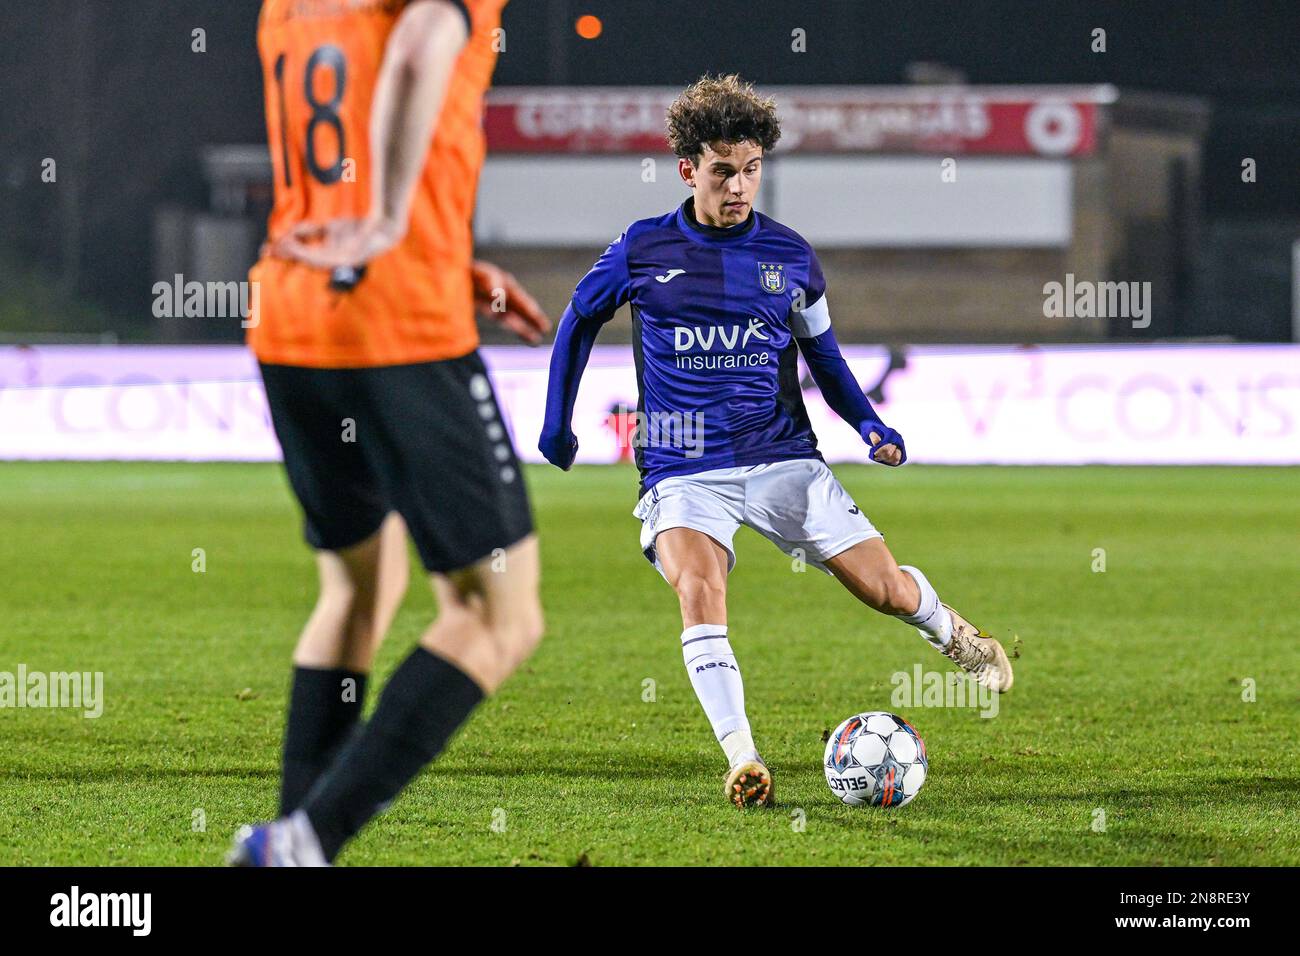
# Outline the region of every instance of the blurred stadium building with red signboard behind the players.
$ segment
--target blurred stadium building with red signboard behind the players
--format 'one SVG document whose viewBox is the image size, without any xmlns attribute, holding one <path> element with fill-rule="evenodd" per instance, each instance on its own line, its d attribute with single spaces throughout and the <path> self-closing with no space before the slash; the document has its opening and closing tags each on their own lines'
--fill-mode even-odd
<svg viewBox="0 0 1300 956">
<path fill-rule="evenodd" d="M 667 151 L 666 87 L 507 87 L 490 94 L 478 254 L 558 315 L 601 250 L 686 190 Z M 1147 341 L 1180 330 L 1197 221 L 1196 100 L 1108 86 L 774 87 L 785 135 L 758 208 L 802 232 L 826 268 L 842 341 L 1096 342 L 1130 316 L 1046 315 L 1067 276 L 1149 282 Z M 155 216 L 155 274 L 242 277 L 256 254 L 264 146 L 204 152 L 209 212 Z M 1179 196 L 1184 200 L 1179 200 Z M 485 341 L 507 342 L 491 328 Z M 160 341 L 238 329 L 157 321 Z M 627 343 L 615 325 L 608 341 Z"/>
</svg>

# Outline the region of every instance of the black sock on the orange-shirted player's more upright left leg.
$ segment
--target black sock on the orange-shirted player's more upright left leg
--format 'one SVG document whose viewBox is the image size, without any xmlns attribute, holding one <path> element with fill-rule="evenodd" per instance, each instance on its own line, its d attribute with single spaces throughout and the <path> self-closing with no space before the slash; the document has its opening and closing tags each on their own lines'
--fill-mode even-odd
<svg viewBox="0 0 1300 956">
<path fill-rule="evenodd" d="M 364 674 L 343 667 L 294 667 L 280 774 L 281 817 L 302 805 L 312 784 L 334 762 L 361 719 L 364 704 Z"/>
</svg>

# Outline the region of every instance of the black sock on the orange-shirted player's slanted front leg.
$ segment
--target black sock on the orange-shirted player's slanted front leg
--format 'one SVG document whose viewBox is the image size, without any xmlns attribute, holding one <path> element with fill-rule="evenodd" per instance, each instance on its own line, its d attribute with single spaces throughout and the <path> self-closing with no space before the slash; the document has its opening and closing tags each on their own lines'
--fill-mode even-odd
<svg viewBox="0 0 1300 956">
<path fill-rule="evenodd" d="M 326 860 L 442 752 L 482 698 L 455 665 L 420 646 L 411 652 L 303 803 Z"/>
</svg>

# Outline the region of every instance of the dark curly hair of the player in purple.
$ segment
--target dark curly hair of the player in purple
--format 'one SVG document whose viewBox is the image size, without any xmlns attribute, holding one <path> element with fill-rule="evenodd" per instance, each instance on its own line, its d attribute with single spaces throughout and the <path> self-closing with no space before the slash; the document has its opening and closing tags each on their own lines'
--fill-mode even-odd
<svg viewBox="0 0 1300 956">
<path fill-rule="evenodd" d="M 734 73 L 727 77 L 706 74 L 697 79 L 668 107 L 667 120 L 668 146 L 693 164 L 699 163 L 708 143 L 748 139 L 767 152 L 781 138 L 776 100 L 759 96 L 753 83 Z"/>
</svg>

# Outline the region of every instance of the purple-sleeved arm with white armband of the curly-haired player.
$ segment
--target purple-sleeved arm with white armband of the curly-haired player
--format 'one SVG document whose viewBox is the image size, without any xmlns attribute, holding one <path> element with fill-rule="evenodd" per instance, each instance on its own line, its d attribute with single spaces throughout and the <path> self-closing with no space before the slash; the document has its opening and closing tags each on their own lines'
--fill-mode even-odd
<svg viewBox="0 0 1300 956">
<path fill-rule="evenodd" d="M 906 462 L 907 449 L 902 436 L 880 420 L 840 352 L 826 293 L 802 312 L 792 312 L 790 326 L 826 403 L 862 436 L 862 441 L 871 447 L 871 460 L 894 466 Z"/>
</svg>

